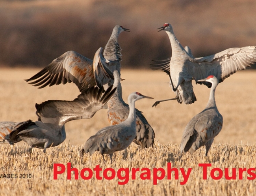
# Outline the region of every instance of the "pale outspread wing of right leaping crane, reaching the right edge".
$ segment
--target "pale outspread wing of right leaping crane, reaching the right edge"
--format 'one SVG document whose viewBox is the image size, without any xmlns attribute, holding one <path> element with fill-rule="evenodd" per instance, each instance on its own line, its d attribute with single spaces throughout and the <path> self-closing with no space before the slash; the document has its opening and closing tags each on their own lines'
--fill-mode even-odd
<svg viewBox="0 0 256 196">
<path fill-rule="evenodd" d="M 214 75 L 219 82 L 256 63 L 256 46 L 230 48 L 210 56 L 195 58 L 189 68 L 195 81 Z M 201 82 L 198 82 L 201 83 Z M 206 84 L 205 82 L 202 82 Z M 208 85 L 210 87 L 211 85 Z"/>
</svg>

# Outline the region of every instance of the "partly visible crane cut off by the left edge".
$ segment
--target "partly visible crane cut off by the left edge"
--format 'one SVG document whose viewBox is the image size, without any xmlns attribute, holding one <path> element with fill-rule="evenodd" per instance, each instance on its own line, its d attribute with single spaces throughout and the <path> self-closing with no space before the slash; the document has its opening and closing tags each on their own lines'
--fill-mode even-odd
<svg viewBox="0 0 256 196">
<path fill-rule="evenodd" d="M 13 144 L 9 140 L 9 135 L 11 131 L 13 130 L 13 127 L 15 127 L 19 122 L 11 122 L 11 121 L 6 121 L 6 122 L 0 122 L 0 143 L 9 143 Z M 18 140 L 17 142 L 20 142 L 21 140 Z"/>
</svg>

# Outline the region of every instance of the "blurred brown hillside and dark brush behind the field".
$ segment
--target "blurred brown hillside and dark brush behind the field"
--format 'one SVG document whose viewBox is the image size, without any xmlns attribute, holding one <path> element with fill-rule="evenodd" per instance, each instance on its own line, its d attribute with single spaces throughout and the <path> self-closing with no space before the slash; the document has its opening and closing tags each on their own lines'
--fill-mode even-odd
<svg viewBox="0 0 256 196">
<path fill-rule="evenodd" d="M 0 66 L 45 67 L 66 51 L 93 59 L 119 24 L 122 67 L 171 56 L 165 22 L 194 56 L 256 45 L 255 0 L 2 0 Z M 255 68 L 255 66 L 254 66 Z"/>
</svg>

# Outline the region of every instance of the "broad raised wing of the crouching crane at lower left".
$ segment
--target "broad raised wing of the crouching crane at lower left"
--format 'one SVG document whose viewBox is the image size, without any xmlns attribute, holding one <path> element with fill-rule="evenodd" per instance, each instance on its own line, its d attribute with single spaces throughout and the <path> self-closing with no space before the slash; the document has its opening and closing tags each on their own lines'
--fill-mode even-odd
<svg viewBox="0 0 256 196">
<path fill-rule="evenodd" d="M 112 90 L 111 86 L 103 93 L 103 87 L 100 89 L 91 87 L 73 101 L 48 100 L 41 104 L 36 103 L 38 120 L 44 123 L 64 125 L 70 120 L 91 118 L 96 111 L 104 107 L 115 90 L 116 88 Z"/>
</svg>

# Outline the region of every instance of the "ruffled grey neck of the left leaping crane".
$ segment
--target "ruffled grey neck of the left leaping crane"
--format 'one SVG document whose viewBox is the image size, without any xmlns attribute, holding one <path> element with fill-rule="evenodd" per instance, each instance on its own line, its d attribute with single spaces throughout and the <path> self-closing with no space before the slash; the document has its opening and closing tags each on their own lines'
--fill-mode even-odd
<svg viewBox="0 0 256 196">
<path fill-rule="evenodd" d="M 105 46 L 103 55 L 109 61 L 122 60 L 121 47 L 117 42 L 117 38 L 119 36 L 118 31 L 113 31 L 108 43 Z"/>
</svg>

